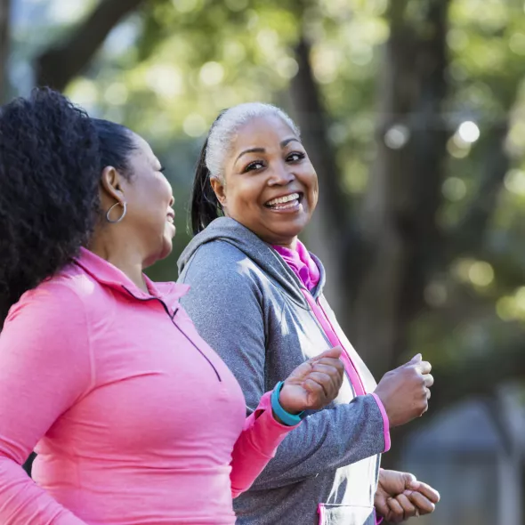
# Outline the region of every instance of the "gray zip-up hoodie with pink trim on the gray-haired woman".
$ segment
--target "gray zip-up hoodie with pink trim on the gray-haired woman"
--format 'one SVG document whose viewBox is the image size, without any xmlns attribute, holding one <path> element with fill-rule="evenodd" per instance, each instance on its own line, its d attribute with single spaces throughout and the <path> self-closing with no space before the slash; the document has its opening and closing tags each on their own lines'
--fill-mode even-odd
<svg viewBox="0 0 525 525">
<path fill-rule="evenodd" d="M 316 263 L 321 278 L 312 299 L 326 312 L 366 392 L 372 392 L 376 382 L 327 305 L 325 272 Z M 217 219 L 193 238 L 179 271 L 179 281 L 191 287 L 181 303 L 237 377 L 248 414 L 264 392 L 332 346 L 294 271 L 232 219 Z M 387 422 L 374 396 L 354 392 L 345 377 L 335 401 L 312 411 L 288 434 L 252 488 L 234 500 L 239 524 L 375 525 Z"/>
</svg>

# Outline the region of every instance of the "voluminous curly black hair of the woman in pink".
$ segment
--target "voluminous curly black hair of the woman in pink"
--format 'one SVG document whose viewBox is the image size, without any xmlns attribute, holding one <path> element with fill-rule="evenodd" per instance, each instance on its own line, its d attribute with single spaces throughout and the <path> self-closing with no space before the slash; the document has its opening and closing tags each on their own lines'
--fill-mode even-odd
<svg viewBox="0 0 525 525">
<path fill-rule="evenodd" d="M 0 330 L 20 295 L 87 245 L 101 217 L 101 171 L 131 175 L 134 148 L 127 128 L 49 88 L 0 108 Z"/>
</svg>

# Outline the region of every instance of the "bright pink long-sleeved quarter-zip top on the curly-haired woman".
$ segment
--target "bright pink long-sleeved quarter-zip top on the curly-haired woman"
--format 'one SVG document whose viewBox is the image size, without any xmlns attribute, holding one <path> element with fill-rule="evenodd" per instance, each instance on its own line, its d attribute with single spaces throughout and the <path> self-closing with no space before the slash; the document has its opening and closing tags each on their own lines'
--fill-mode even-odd
<svg viewBox="0 0 525 525">
<path fill-rule="evenodd" d="M 83 249 L 0 335 L 0 523 L 233 524 L 294 427 L 240 387 L 178 303 Z M 20 464 L 36 449 L 31 481 Z"/>
</svg>

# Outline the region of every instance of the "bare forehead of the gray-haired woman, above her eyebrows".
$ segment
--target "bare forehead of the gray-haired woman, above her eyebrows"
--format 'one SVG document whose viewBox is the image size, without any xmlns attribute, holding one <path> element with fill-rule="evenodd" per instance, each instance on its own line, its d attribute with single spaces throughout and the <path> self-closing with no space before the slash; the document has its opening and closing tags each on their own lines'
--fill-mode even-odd
<svg viewBox="0 0 525 525">
<path fill-rule="evenodd" d="M 232 137 L 231 149 L 235 152 L 247 148 L 267 148 L 290 137 L 298 138 L 278 115 L 254 117 L 238 128 Z"/>
</svg>

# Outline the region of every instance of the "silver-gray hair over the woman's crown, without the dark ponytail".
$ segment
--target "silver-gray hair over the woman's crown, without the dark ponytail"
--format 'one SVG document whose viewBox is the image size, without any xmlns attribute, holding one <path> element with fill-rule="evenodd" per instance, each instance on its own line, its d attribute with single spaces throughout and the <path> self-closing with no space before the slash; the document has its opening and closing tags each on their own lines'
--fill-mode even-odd
<svg viewBox="0 0 525 525">
<path fill-rule="evenodd" d="M 271 104 L 263 104 L 263 102 L 238 104 L 238 106 L 226 109 L 221 117 L 215 120 L 210 129 L 206 147 L 206 167 L 211 177 L 222 179 L 224 160 L 230 152 L 231 141 L 238 129 L 253 118 L 271 115 L 282 118 L 294 133 L 300 136 L 299 128 L 285 111 Z"/>
</svg>

